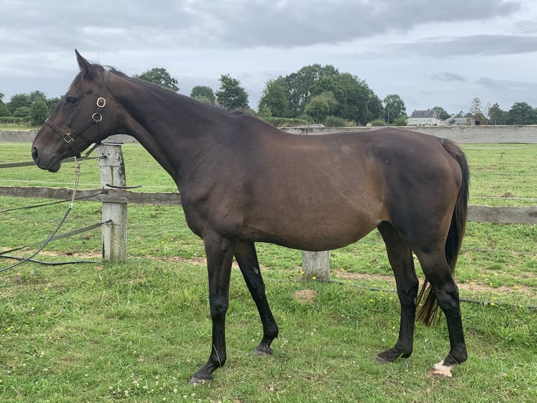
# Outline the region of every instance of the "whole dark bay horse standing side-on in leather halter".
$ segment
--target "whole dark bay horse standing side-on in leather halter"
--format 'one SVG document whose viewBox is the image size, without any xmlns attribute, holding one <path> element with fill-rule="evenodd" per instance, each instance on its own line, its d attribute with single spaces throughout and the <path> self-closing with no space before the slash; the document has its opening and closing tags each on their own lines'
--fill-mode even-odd
<svg viewBox="0 0 537 403">
<path fill-rule="evenodd" d="M 235 257 L 263 325 L 255 355 L 270 355 L 278 326 L 266 300 L 254 242 L 322 251 L 381 233 L 401 305 L 397 343 L 377 360 L 412 354 L 414 322 L 447 319 L 450 349 L 430 374 L 451 376 L 467 357 L 453 270 L 468 206 L 468 165 L 451 141 L 382 128 L 297 136 L 248 114 L 230 113 L 116 70 L 76 52 L 80 73 L 34 140 L 37 166 L 126 133 L 168 171 L 191 230 L 203 239 L 212 348 L 191 383 L 226 362 L 225 317 Z M 426 283 L 419 281 L 412 252 Z"/>
</svg>

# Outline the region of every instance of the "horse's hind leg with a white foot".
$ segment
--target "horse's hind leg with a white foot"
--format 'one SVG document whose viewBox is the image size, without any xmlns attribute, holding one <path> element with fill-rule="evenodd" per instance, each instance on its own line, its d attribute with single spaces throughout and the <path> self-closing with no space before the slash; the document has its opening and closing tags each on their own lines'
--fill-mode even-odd
<svg viewBox="0 0 537 403">
<path fill-rule="evenodd" d="M 462 364 L 468 358 L 458 287 L 451 275 L 443 248 L 426 251 L 414 249 L 414 253 L 419 258 L 423 273 L 435 293 L 438 306 L 446 316 L 449 332 L 449 354 L 442 362 L 436 364 L 429 374 L 435 377 L 451 378 L 451 368 L 456 364 Z"/>
</svg>

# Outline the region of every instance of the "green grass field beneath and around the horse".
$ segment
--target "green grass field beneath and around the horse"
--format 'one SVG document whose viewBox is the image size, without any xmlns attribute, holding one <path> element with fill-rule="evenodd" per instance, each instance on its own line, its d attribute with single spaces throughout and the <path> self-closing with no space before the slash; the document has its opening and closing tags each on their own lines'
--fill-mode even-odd
<svg viewBox="0 0 537 403">
<path fill-rule="evenodd" d="M 536 205 L 536 145 L 468 145 L 472 204 Z M 128 185 L 175 191 L 137 145 L 124 145 Z M 3 144 L 0 164 L 29 161 L 29 144 Z M 151 176 L 147 175 L 151 172 Z M 3 169 L 0 185 L 70 187 L 57 174 Z M 100 187 L 97 162 L 81 187 Z M 45 200 L 0 198 L 0 210 Z M 0 251 L 45 239 L 67 205 L 2 213 Z M 100 204 L 76 202 L 62 228 L 100 221 Z M 337 283 L 302 282 L 299 251 L 260 244 L 269 302 L 280 325 L 269 359 L 252 357 L 261 323 L 238 270 L 227 320 L 229 359 L 215 381 L 193 388 L 207 359 L 210 315 L 203 244 L 172 206 L 128 207 L 123 264 L 100 263 L 100 230 L 52 242 L 42 260 L 0 273 L 0 402 L 533 402 L 537 400 L 537 226 L 469 223 L 456 271 L 469 359 L 454 378 L 426 371 L 449 349 L 442 322 L 418 324 L 414 355 L 374 363 L 395 343 L 397 296 L 379 234 L 331 252 Z M 29 255 L 35 246 L 22 251 Z M 1 267 L 11 264 L 1 259 Z M 420 270 L 419 270 L 420 271 Z M 420 273 L 421 274 L 421 273 Z M 312 303 L 294 293 L 315 291 Z M 383 291 L 373 291 L 381 289 Z"/>
</svg>

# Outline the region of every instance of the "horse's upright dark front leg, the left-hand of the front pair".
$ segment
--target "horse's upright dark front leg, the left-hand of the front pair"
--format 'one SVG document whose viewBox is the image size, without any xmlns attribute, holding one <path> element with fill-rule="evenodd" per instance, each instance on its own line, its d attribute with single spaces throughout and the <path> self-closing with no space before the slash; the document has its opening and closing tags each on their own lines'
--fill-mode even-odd
<svg viewBox="0 0 537 403">
<path fill-rule="evenodd" d="M 212 319 L 212 348 L 208 361 L 194 374 L 190 383 L 212 381 L 215 369 L 226 362 L 226 312 L 229 306 L 229 279 L 234 245 L 212 234 L 203 237 L 209 276 L 209 305 Z"/>
</svg>

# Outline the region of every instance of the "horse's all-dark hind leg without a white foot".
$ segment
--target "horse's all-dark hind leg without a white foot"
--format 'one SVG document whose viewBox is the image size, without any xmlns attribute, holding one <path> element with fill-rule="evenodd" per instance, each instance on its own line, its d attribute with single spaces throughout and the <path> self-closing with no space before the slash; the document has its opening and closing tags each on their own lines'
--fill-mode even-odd
<svg viewBox="0 0 537 403">
<path fill-rule="evenodd" d="M 389 223 L 381 223 L 378 230 L 386 244 L 388 260 L 395 275 L 397 296 L 401 304 L 401 319 L 397 343 L 393 348 L 380 352 L 376 359 L 379 362 L 393 362 L 400 357 L 406 358 L 412 354 L 419 281 L 414 270 L 412 251 L 407 242 L 401 239 Z"/>
</svg>

